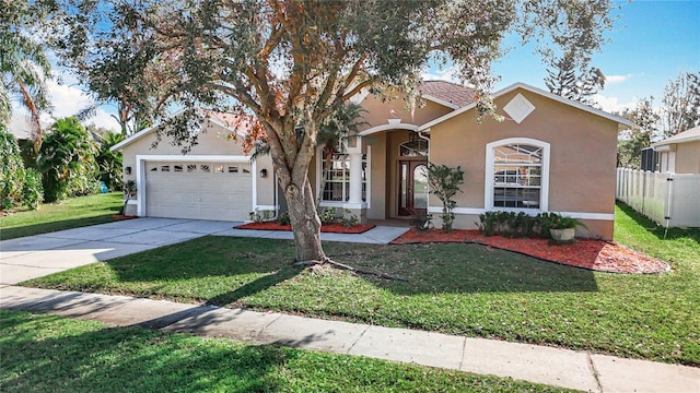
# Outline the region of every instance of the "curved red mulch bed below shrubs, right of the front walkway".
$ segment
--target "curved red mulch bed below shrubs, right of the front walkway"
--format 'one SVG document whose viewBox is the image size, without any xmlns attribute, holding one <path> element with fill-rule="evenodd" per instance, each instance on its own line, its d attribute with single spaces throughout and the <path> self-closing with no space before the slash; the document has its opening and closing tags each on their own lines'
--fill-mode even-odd
<svg viewBox="0 0 700 393">
<path fill-rule="evenodd" d="M 670 270 L 663 261 L 604 240 L 578 239 L 572 245 L 553 246 L 548 239 L 486 237 L 478 230 L 455 229 L 447 234 L 440 229 L 419 231 L 411 228 L 392 241 L 393 245 L 416 242 L 475 242 L 549 262 L 609 273 L 661 273 Z"/>
</svg>

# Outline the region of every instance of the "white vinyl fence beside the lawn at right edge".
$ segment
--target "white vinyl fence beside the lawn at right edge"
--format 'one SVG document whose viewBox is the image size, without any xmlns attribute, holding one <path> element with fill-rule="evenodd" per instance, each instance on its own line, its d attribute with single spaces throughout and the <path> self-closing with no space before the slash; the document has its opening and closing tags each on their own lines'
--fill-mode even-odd
<svg viewBox="0 0 700 393">
<path fill-rule="evenodd" d="M 618 168 L 615 198 L 665 227 L 700 227 L 700 175 Z"/>
</svg>

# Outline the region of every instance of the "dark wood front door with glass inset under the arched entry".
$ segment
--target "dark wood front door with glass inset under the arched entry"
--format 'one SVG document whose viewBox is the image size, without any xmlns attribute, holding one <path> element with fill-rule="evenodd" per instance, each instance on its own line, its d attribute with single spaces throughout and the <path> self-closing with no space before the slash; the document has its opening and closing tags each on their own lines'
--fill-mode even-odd
<svg viewBox="0 0 700 393">
<path fill-rule="evenodd" d="M 428 213 L 428 166 L 424 160 L 398 162 L 398 215 Z"/>
</svg>

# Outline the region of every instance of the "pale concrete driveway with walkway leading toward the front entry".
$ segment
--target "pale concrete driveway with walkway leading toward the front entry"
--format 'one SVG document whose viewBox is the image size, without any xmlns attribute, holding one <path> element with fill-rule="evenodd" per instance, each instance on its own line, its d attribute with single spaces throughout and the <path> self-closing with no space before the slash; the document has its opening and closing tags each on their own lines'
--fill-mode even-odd
<svg viewBox="0 0 700 393">
<path fill-rule="evenodd" d="M 292 239 L 289 231 L 234 229 L 241 222 L 138 218 L 0 241 L 0 286 L 106 261 L 206 235 Z M 388 243 L 408 228 L 322 234 L 324 241 Z"/>
</svg>

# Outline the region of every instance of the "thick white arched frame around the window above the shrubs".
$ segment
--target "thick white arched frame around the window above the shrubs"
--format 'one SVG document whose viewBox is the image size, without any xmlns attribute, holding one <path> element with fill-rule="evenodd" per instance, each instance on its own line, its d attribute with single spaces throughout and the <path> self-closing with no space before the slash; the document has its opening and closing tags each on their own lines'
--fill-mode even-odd
<svg viewBox="0 0 700 393">
<path fill-rule="evenodd" d="M 541 162 L 541 183 L 539 189 L 539 209 L 520 209 L 520 207 L 501 207 L 493 206 L 493 187 L 494 187 L 494 150 L 499 146 L 510 144 L 526 144 L 542 150 Z M 483 206 L 491 211 L 505 212 L 525 212 L 538 213 L 549 211 L 549 164 L 550 164 L 550 145 L 547 142 L 532 138 L 508 138 L 499 141 L 487 143 L 486 145 L 486 181 L 483 187 Z"/>
</svg>

